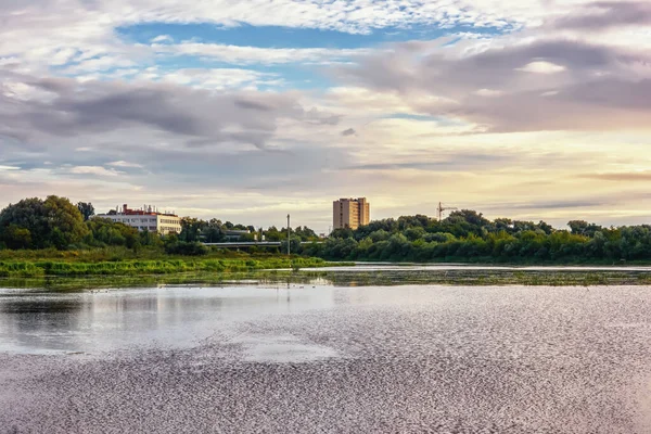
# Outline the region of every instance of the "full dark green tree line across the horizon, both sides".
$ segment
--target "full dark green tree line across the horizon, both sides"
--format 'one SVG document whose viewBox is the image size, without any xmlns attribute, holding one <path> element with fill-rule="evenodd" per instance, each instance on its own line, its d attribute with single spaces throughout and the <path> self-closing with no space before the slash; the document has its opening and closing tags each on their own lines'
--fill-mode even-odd
<svg viewBox="0 0 651 434">
<path fill-rule="evenodd" d="M 218 219 L 182 218 L 181 232 L 159 237 L 95 218 L 90 203 L 65 197 L 25 199 L 0 210 L 0 250 L 88 250 L 119 246 L 204 255 L 202 242 L 226 240 L 232 229 L 254 230 Z M 323 242 L 307 227 L 290 230 L 292 253 L 330 260 L 621 263 L 651 260 L 651 226 L 604 228 L 573 220 L 567 229 L 539 221 L 488 220 L 470 210 L 452 212 L 438 221 L 424 215 L 371 221 L 357 230 L 337 229 Z M 267 241 L 286 248 L 286 228 L 264 230 Z M 253 241 L 253 233 L 243 241 Z M 310 242 L 301 244 L 302 242 Z M 271 251 L 273 252 L 273 251 Z"/>
</svg>

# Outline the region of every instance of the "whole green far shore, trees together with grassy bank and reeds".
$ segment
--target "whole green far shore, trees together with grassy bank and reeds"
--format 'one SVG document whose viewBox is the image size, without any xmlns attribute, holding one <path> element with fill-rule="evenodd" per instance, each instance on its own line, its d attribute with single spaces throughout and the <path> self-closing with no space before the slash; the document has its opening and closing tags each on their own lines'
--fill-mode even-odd
<svg viewBox="0 0 651 434">
<path fill-rule="evenodd" d="M 74 205 L 54 195 L 26 199 L 0 210 L 0 286 L 291 284 L 319 279 L 341 285 L 651 284 L 651 272 L 646 270 L 608 270 L 609 266 L 651 265 L 649 225 L 605 228 L 573 220 L 567 230 L 544 221 L 489 220 L 462 209 L 443 220 L 424 215 L 374 220 L 356 230 L 336 229 L 320 240 L 307 227 L 270 227 L 258 232 L 253 226 L 190 217 L 181 218 L 180 233 L 161 235 L 93 214 L 90 203 Z M 267 241 L 279 241 L 280 246 L 233 252 L 203 244 L 225 241 L 233 229 L 248 238 L 256 232 Z M 283 254 L 288 243 L 292 256 Z M 327 267 L 350 266 L 352 261 L 605 268 L 327 271 Z M 324 271 L 314 270 L 321 268 Z"/>
</svg>

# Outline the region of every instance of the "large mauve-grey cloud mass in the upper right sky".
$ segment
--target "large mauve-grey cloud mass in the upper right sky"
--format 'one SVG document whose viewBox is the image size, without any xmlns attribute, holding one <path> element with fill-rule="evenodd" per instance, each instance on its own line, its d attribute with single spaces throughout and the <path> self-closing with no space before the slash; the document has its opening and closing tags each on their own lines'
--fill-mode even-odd
<svg viewBox="0 0 651 434">
<path fill-rule="evenodd" d="M 650 128 L 651 71 L 650 78 L 638 73 L 639 64 L 651 62 L 648 52 L 544 39 L 450 54 L 398 43 L 388 55 L 334 74 L 348 86 L 394 92 L 413 112 L 489 131 Z"/>
</svg>

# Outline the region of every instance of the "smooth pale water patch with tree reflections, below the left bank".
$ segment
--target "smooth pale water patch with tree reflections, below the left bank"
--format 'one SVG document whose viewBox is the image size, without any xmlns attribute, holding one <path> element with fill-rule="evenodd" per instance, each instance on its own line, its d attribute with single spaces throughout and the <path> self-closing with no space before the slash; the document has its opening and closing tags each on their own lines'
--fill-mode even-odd
<svg viewBox="0 0 651 434">
<path fill-rule="evenodd" d="M 234 321 L 333 304 L 331 293 L 158 288 L 48 294 L 0 290 L 0 350 L 98 353 L 129 345 L 196 345 Z"/>
</svg>

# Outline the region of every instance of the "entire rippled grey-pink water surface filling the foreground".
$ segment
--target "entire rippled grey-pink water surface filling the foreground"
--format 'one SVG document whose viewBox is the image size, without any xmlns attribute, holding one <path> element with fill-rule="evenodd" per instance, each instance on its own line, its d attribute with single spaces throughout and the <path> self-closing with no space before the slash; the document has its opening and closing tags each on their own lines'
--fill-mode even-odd
<svg viewBox="0 0 651 434">
<path fill-rule="evenodd" d="M 649 433 L 650 356 L 648 286 L 0 290 L 0 432 Z"/>
</svg>

